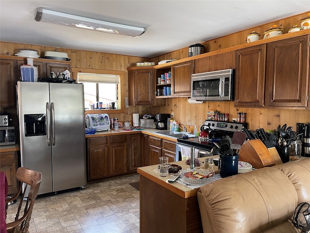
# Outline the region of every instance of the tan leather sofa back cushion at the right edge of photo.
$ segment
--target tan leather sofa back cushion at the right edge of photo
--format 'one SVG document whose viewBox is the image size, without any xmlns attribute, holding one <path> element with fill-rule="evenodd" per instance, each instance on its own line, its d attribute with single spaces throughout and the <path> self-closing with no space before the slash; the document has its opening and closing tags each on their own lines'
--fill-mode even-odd
<svg viewBox="0 0 310 233">
<path fill-rule="evenodd" d="M 282 171 L 294 184 L 298 203 L 310 202 L 310 158 L 273 166 Z"/>
</svg>

